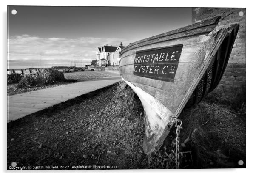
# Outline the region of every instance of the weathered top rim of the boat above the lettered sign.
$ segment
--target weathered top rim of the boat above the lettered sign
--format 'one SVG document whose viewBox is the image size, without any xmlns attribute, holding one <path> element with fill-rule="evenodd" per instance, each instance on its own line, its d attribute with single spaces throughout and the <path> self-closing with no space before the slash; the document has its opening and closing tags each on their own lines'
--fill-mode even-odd
<svg viewBox="0 0 256 176">
<path fill-rule="evenodd" d="M 171 30 L 171 31 L 168 31 L 168 32 L 165 32 L 165 33 L 158 34 L 156 36 L 152 36 L 152 37 L 144 38 L 144 39 L 139 40 L 139 41 L 135 41 L 135 42 L 129 44 L 127 47 L 123 48 L 121 50 L 120 54 L 122 55 L 123 52 L 131 50 L 130 48 L 132 46 L 134 46 L 136 44 L 143 43 L 145 41 L 151 41 L 151 40 L 154 40 L 154 39 L 157 39 L 157 38 L 162 38 L 162 37 L 165 37 L 165 36 L 171 36 L 171 35 L 174 35 L 174 34 L 177 34 L 177 33 L 182 33 L 182 32 L 186 32 L 186 31 L 189 31 L 189 30 L 195 30 L 195 29 L 202 28 L 202 27 L 207 27 L 207 26 L 210 26 L 210 25 L 217 25 L 218 22 L 219 22 L 219 19 L 221 19 L 221 17 L 216 16 L 216 17 L 213 17 L 211 19 L 207 19 L 207 20 L 204 20 L 204 21 L 201 21 L 201 22 L 194 23 L 192 25 L 188 25 L 188 26 L 185 26 L 185 27 L 181 27 L 181 28 L 178 28 L 178 29 L 175 29 L 175 30 Z M 207 23 L 207 22 L 209 22 L 209 23 Z M 203 25 L 204 23 L 205 23 L 205 25 Z M 192 28 L 189 28 L 189 27 L 192 27 Z"/>
</svg>

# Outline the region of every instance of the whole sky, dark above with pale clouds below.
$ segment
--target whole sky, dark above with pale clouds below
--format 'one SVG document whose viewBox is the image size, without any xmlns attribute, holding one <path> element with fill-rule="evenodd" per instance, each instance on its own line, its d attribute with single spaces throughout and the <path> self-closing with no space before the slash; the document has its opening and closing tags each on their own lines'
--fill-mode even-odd
<svg viewBox="0 0 256 176">
<path fill-rule="evenodd" d="M 11 11 L 17 10 L 17 14 Z M 191 25 L 191 8 L 9 6 L 8 68 L 84 66 L 97 47 Z"/>
</svg>

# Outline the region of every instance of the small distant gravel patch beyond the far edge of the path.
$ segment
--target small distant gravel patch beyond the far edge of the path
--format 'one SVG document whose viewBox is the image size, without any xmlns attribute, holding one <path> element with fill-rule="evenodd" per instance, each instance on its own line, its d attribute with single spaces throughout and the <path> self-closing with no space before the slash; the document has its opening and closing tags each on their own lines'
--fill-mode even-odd
<svg viewBox="0 0 256 176">
<path fill-rule="evenodd" d="M 110 77 L 107 74 L 102 74 L 97 71 L 79 71 L 73 73 L 64 73 L 66 79 L 74 79 L 77 81 L 86 81 L 91 79 L 97 79 L 101 77 Z"/>
</svg>

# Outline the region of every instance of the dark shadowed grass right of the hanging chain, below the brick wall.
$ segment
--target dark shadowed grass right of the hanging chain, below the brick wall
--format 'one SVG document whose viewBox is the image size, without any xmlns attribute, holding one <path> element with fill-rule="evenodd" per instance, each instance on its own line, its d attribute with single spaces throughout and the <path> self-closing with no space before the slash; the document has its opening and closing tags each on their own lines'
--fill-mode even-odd
<svg viewBox="0 0 256 176">
<path fill-rule="evenodd" d="M 244 168 L 245 91 L 217 88 L 195 107 L 184 110 L 183 151 L 192 151 L 193 168 Z"/>
</svg>

